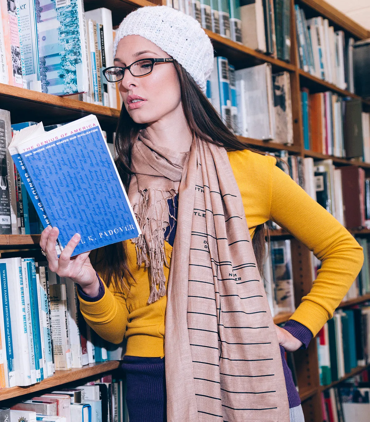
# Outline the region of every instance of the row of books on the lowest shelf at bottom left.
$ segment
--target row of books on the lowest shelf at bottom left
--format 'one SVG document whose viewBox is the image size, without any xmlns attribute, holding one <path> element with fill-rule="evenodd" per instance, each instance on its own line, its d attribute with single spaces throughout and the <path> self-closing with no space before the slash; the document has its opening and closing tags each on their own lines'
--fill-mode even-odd
<svg viewBox="0 0 370 422">
<path fill-rule="evenodd" d="M 39 393 L 0 408 L 0 420 L 9 422 L 125 422 L 128 412 L 125 381 L 106 375 L 85 385 Z"/>
</svg>

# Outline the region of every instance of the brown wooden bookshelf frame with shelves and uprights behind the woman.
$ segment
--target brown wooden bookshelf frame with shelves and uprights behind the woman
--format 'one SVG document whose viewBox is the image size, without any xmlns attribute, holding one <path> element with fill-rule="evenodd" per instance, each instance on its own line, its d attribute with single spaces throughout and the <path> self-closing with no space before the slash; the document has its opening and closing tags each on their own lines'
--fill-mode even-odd
<svg viewBox="0 0 370 422">
<path fill-rule="evenodd" d="M 296 154 L 300 157 L 313 157 L 317 160 L 332 159 L 335 165 L 357 165 L 369 169 L 370 164 L 347 160 L 346 158 L 331 157 L 325 154 L 319 154 L 313 151 L 306 151 L 303 145 L 303 122 L 301 116 L 300 90 L 307 87 L 310 92 L 324 92 L 330 90 L 343 97 L 359 98 L 357 95 L 347 90 L 340 89 L 322 79 L 316 78 L 299 68 L 297 36 L 295 30 L 294 3 L 298 3 L 306 11 L 307 16 L 322 15 L 329 19 L 330 24 L 335 26 L 335 30 L 342 29 L 346 36 L 353 36 L 355 39 L 370 38 L 370 31 L 361 27 L 341 12 L 337 11 L 331 5 L 322 0 L 291 0 L 291 62 L 287 63 L 252 50 L 247 46 L 227 40 L 211 31 L 206 31 L 212 40 L 216 55 L 223 55 L 228 58 L 230 63 L 241 69 L 270 63 L 273 72 L 286 70 L 290 73 L 292 112 L 293 112 L 293 133 L 294 144 L 290 146 L 271 141 L 261 141 L 257 139 L 242 138 L 239 139 L 248 146 L 263 151 L 287 150 L 290 154 Z M 113 25 L 118 25 L 126 14 L 137 7 L 155 6 L 165 4 L 165 0 L 84 0 L 85 10 L 92 10 L 99 7 L 106 7 L 113 11 Z M 72 100 L 69 97 L 57 97 L 54 95 L 42 94 L 23 88 L 10 87 L 0 84 L 0 103 L 1 108 L 6 108 L 11 112 L 12 122 L 40 121 L 44 124 L 55 124 L 67 122 L 73 119 L 95 114 L 107 131 L 114 131 L 120 111 L 97 106 L 95 104 L 83 103 Z M 366 110 L 370 107 L 369 100 L 362 100 Z M 263 193 L 262 193 L 263 194 Z M 369 235 L 369 229 L 351 230 L 353 235 Z M 291 238 L 292 242 L 292 271 L 295 284 L 295 304 L 299 305 L 301 298 L 307 295 L 312 287 L 311 279 L 311 252 L 284 230 L 271 230 L 271 238 Z M 40 235 L 0 235 L 0 252 L 5 249 L 20 249 L 37 247 L 40 241 Z M 364 295 L 360 298 L 351 299 L 342 302 L 340 307 L 353 306 L 370 300 L 370 295 Z M 276 324 L 286 322 L 291 314 L 278 314 L 274 317 Z M 303 401 L 303 411 L 306 422 L 318 422 L 321 419 L 321 397 L 322 390 L 337 385 L 339 382 L 360 373 L 364 368 L 355 368 L 350 374 L 347 374 L 339 381 L 330 384 L 330 386 L 321 387 L 319 385 L 319 365 L 317 357 L 316 342 L 312 341 L 307 350 L 298 350 L 295 352 L 297 365 L 298 385 L 300 397 Z M 60 384 L 86 379 L 101 373 L 113 371 L 119 366 L 118 361 L 105 362 L 96 365 L 89 365 L 81 369 L 72 371 L 58 371 L 56 374 L 41 383 L 30 387 L 14 387 L 11 389 L 0 390 L 0 401 L 9 398 L 26 395 L 28 393 L 56 387 Z"/>
</svg>

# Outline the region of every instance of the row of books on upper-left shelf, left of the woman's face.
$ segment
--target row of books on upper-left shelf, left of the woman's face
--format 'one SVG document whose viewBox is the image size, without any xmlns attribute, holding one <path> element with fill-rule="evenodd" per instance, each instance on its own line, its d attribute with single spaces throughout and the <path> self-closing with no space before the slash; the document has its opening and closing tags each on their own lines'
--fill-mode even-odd
<svg viewBox="0 0 370 422">
<path fill-rule="evenodd" d="M 0 82 L 54 95 L 81 94 L 117 108 L 115 84 L 102 71 L 113 66 L 112 13 L 83 12 L 78 0 L 2 1 Z"/>
</svg>

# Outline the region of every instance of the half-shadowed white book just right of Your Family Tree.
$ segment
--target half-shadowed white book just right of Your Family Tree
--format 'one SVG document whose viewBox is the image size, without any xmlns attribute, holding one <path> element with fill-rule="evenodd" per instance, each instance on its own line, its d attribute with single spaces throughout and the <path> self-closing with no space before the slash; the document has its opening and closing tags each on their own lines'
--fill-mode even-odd
<svg viewBox="0 0 370 422">
<path fill-rule="evenodd" d="M 66 285 L 68 332 L 70 336 L 72 368 L 82 368 L 82 348 L 78 327 L 78 298 L 75 283 L 71 279 L 62 279 Z"/>
</svg>

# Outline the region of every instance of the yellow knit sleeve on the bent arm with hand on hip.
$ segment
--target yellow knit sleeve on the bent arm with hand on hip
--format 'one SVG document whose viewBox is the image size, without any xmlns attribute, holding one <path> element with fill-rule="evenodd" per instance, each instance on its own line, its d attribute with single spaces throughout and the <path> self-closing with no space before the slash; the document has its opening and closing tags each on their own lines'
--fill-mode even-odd
<svg viewBox="0 0 370 422">
<path fill-rule="evenodd" d="M 346 228 L 276 166 L 272 170 L 270 218 L 322 261 L 311 291 L 302 298 L 291 317 L 315 336 L 332 317 L 359 273 L 364 260 L 362 247 Z"/>
</svg>

